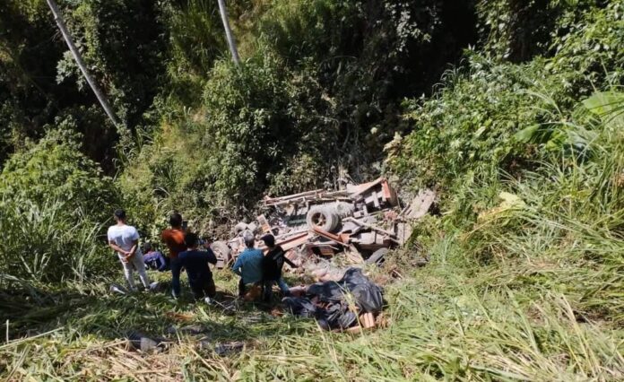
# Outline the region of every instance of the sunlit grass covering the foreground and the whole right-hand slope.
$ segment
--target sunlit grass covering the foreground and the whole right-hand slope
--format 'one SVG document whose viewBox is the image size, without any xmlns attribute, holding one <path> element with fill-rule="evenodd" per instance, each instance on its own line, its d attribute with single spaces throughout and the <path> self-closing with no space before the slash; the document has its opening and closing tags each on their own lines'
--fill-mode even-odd
<svg viewBox="0 0 624 382">
<path fill-rule="evenodd" d="M 275 317 L 262 305 L 232 311 L 164 292 L 112 295 L 110 279 L 4 280 L 13 286 L 0 293 L 8 321 L 2 377 L 622 380 L 624 117 L 587 126 L 594 134 L 583 154 L 546 157 L 513 178 L 476 174 L 482 180 L 442 195 L 441 216 L 416 225 L 417 245 L 367 269 L 387 300 L 385 325 L 374 331 L 324 332 L 313 320 Z M 418 267 L 422 255 L 431 262 Z M 236 279 L 216 274 L 229 304 Z M 205 333 L 169 334 L 170 326 L 191 324 Z M 131 330 L 168 337 L 169 348 L 131 351 Z M 207 346 L 199 346 L 202 338 Z M 242 352 L 215 352 L 234 341 L 245 343 Z"/>
</svg>

